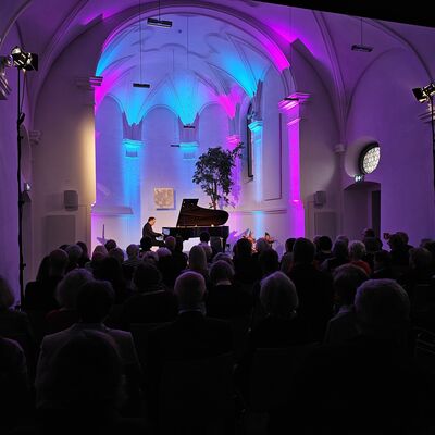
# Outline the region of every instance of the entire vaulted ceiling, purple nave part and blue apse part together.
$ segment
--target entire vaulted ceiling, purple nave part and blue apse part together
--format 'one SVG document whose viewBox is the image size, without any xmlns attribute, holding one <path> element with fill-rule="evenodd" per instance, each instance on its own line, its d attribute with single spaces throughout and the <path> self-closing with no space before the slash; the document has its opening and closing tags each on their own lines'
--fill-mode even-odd
<svg viewBox="0 0 435 435">
<path fill-rule="evenodd" d="M 252 0 L 162 0 L 160 3 L 162 17 L 172 20 L 174 26 L 171 29 L 142 26 L 140 39 L 139 10 L 144 20 L 156 16 L 158 1 L 3 0 L 0 53 L 10 50 L 3 40 L 8 29 L 16 23 L 24 48 L 40 55 L 40 71 L 29 77 L 29 94 L 34 99 L 49 69 L 65 47 L 94 26 L 110 27 L 115 21 L 117 25 L 108 32 L 112 39 L 105 46 L 108 50 L 100 59 L 96 74 L 113 76 L 115 62 L 117 74 L 124 79 L 152 82 L 156 85 L 154 96 L 165 87 L 166 90 L 172 88 L 172 94 L 179 98 L 188 98 L 182 95 L 179 82 L 174 80 L 175 70 L 178 77 L 184 76 L 185 80 L 196 79 L 203 89 L 202 95 L 209 92 L 213 98 L 229 100 L 240 98 L 240 94 L 252 95 L 256 80 L 264 75 L 268 67 L 282 71 L 286 67 L 283 54 L 291 63 L 294 50 L 313 65 L 331 90 L 335 105 L 341 107 L 341 110 L 346 110 L 364 72 L 390 50 L 408 50 L 426 75 L 425 79 L 431 80 L 434 75 L 434 28 L 383 22 L 376 15 L 375 18 L 359 18 Z M 300 5 L 302 2 L 291 3 Z M 308 1 L 303 5 L 314 7 L 318 3 Z M 349 11 L 373 16 L 375 10 L 368 4 L 366 10 Z M 378 16 L 385 15 L 382 10 Z M 142 62 L 135 55 L 139 52 L 140 40 Z M 271 41 L 272 45 L 269 45 Z M 373 51 L 350 50 L 352 45 L 361 42 L 373 47 Z M 249 61 L 246 61 L 248 58 Z M 140 65 L 141 77 L 138 76 Z M 161 95 L 160 98 L 165 97 Z M 201 104 L 201 101 L 196 103 Z M 227 109 L 233 110 L 231 104 Z M 186 110 L 182 109 L 182 112 L 187 120 L 189 113 Z"/>
</svg>

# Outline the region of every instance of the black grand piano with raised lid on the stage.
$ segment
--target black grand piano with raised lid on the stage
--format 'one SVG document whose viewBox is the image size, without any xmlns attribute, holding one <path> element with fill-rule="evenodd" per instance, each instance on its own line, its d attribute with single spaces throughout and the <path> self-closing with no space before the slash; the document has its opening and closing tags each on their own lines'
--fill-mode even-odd
<svg viewBox="0 0 435 435">
<path fill-rule="evenodd" d="M 229 235 L 229 227 L 224 226 L 227 220 L 228 213 L 224 210 L 204 209 L 198 206 L 198 199 L 183 199 L 176 226 L 165 226 L 162 233 L 164 237 L 182 236 L 187 240 L 207 232 L 211 237 L 221 237 L 225 250 Z"/>
</svg>

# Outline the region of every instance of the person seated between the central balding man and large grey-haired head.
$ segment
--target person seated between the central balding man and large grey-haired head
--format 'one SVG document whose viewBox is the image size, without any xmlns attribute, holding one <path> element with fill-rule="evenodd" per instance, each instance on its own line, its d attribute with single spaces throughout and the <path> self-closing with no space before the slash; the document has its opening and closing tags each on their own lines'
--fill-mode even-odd
<svg viewBox="0 0 435 435">
<path fill-rule="evenodd" d="M 207 315 L 217 319 L 237 319 L 250 315 L 252 297 L 232 283 L 234 269 L 224 261 L 213 261 L 210 269 L 212 286 L 207 295 Z"/>
</svg>

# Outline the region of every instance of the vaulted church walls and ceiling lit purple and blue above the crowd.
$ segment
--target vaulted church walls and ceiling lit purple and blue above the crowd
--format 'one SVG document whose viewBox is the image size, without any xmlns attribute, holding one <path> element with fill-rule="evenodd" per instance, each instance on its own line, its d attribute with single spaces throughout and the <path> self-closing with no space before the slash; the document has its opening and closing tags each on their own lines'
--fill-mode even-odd
<svg viewBox="0 0 435 435">
<path fill-rule="evenodd" d="M 215 147 L 243 144 L 216 204 L 224 251 L 435 239 L 435 23 L 332 3 L 3 0 L 0 276 L 16 303 L 61 246 L 125 254 L 150 216 L 162 233 L 184 199 L 210 209 L 192 177 Z"/>
</svg>

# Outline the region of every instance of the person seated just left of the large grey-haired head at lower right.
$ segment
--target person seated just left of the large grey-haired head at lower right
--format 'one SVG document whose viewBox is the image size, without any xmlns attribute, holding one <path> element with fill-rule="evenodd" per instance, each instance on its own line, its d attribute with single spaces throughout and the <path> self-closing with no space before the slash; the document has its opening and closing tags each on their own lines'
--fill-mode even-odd
<svg viewBox="0 0 435 435">
<path fill-rule="evenodd" d="M 357 288 L 366 279 L 368 274 L 353 264 L 335 270 L 334 290 L 339 309 L 327 323 L 324 343 L 343 343 L 358 335 L 353 301 Z"/>
</svg>

